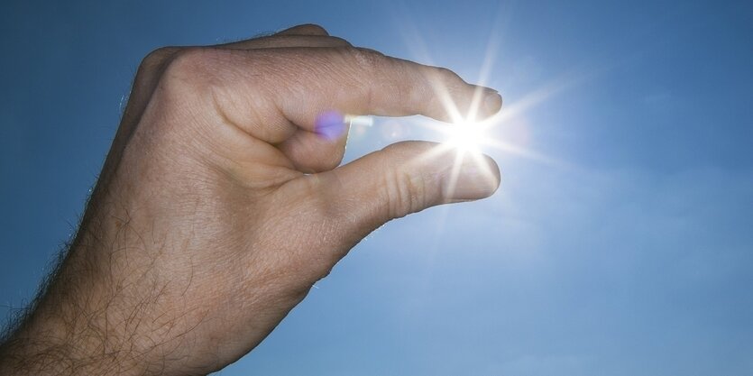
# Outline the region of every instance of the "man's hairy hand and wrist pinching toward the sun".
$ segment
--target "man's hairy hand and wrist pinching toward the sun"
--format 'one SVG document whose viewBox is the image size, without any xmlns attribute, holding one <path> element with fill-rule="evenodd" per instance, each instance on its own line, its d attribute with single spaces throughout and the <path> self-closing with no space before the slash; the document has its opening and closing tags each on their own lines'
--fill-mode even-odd
<svg viewBox="0 0 753 376">
<path fill-rule="evenodd" d="M 429 206 L 490 196 L 488 157 L 399 142 L 339 166 L 351 115 L 496 113 L 493 90 L 354 48 L 317 25 L 163 48 L 136 75 L 78 235 L 0 374 L 197 375 L 250 352 L 364 236 Z M 427 157 L 427 155 L 430 155 Z M 490 173 L 491 172 L 491 173 Z"/>
</svg>

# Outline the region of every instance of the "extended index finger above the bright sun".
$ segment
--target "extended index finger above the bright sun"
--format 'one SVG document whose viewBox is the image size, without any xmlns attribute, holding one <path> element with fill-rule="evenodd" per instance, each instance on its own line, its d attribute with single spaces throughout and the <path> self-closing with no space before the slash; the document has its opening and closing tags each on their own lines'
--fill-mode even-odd
<svg viewBox="0 0 753 376">
<path fill-rule="evenodd" d="M 220 67 L 225 88 L 215 96 L 218 108 L 267 142 L 285 140 L 296 126 L 315 132 L 317 116 L 327 110 L 452 122 L 469 113 L 478 119 L 493 115 L 502 103 L 495 90 L 468 84 L 449 69 L 373 50 L 234 51 L 229 58 L 231 63 Z"/>
</svg>

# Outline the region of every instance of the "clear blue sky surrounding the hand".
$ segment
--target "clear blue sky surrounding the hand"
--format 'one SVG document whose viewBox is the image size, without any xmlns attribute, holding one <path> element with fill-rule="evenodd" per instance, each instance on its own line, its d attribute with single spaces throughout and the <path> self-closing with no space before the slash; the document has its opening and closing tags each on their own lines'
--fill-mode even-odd
<svg viewBox="0 0 753 376">
<path fill-rule="evenodd" d="M 5 2 L 0 315 L 74 231 L 143 55 L 297 23 L 487 61 L 502 185 L 382 227 L 221 374 L 753 375 L 749 1 Z M 437 137 L 417 123 L 356 127 L 347 159 Z"/>
</svg>

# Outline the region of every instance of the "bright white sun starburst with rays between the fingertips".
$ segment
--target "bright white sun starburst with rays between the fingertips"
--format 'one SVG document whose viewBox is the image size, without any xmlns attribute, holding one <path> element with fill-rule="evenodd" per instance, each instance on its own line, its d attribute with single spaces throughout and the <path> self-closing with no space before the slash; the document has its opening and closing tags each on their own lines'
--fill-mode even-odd
<svg viewBox="0 0 753 376">
<path fill-rule="evenodd" d="M 406 6 L 405 4 L 403 6 Z M 473 92 L 471 103 L 468 108 L 459 108 L 453 100 L 448 87 L 445 87 L 443 81 L 438 77 L 427 77 L 431 84 L 432 90 L 444 107 L 446 114 L 449 116 L 452 124 L 444 124 L 427 118 L 412 117 L 405 119 L 406 126 L 422 128 L 430 133 L 429 138 L 438 137 L 440 143 L 436 147 L 416 157 L 418 162 L 425 159 L 434 159 L 447 153 L 454 153 L 454 161 L 450 168 L 450 181 L 447 189 L 449 194 L 455 191 L 457 179 L 460 177 L 464 165 L 474 164 L 476 168 L 482 169 L 489 179 L 497 179 L 497 171 L 491 170 L 491 165 L 485 160 L 486 157 L 482 151 L 495 151 L 507 154 L 516 158 L 536 161 L 548 165 L 567 167 L 568 163 L 547 156 L 546 153 L 535 150 L 528 142 L 515 142 L 500 137 L 500 128 L 506 124 L 526 124 L 525 115 L 531 109 L 552 100 L 556 96 L 562 95 L 565 91 L 581 84 L 586 78 L 592 78 L 598 74 L 600 69 L 581 69 L 571 71 L 569 74 L 561 76 L 546 82 L 545 85 L 537 89 L 528 91 L 523 96 L 510 101 L 505 101 L 504 108 L 489 118 L 479 120 L 479 110 L 483 103 L 486 87 L 490 84 L 491 72 L 495 69 L 497 59 L 500 57 L 501 40 L 504 37 L 503 28 L 507 26 L 510 19 L 510 9 L 500 5 L 496 19 L 492 23 L 491 31 L 486 40 L 485 50 L 480 66 L 477 68 L 476 83 L 479 86 Z M 409 20 L 408 9 L 400 12 L 397 20 L 399 21 L 398 30 L 402 32 L 407 48 L 411 57 L 421 63 L 436 65 L 435 60 L 429 52 L 428 44 L 418 31 L 418 23 Z M 585 68 L 585 67 L 581 67 Z M 593 67 L 592 67 L 593 68 Z M 586 72 L 586 74 L 583 74 Z M 429 73 L 430 75 L 433 73 Z M 492 84 L 498 84 L 494 82 Z"/>
</svg>

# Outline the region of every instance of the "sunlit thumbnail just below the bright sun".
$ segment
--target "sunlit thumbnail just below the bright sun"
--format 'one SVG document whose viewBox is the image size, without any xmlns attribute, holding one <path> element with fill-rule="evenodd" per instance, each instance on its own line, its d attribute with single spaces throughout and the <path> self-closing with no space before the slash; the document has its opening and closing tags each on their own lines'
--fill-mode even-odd
<svg viewBox="0 0 753 376">
<path fill-rule="evenodd" d="M 443 174 L 443 193 L 446 198 L 470 200 L 490 197 L 500 186 L 500 170 L 491 158 L 465 155 L 456 174 L 450 169 Z"/>
</svg>

